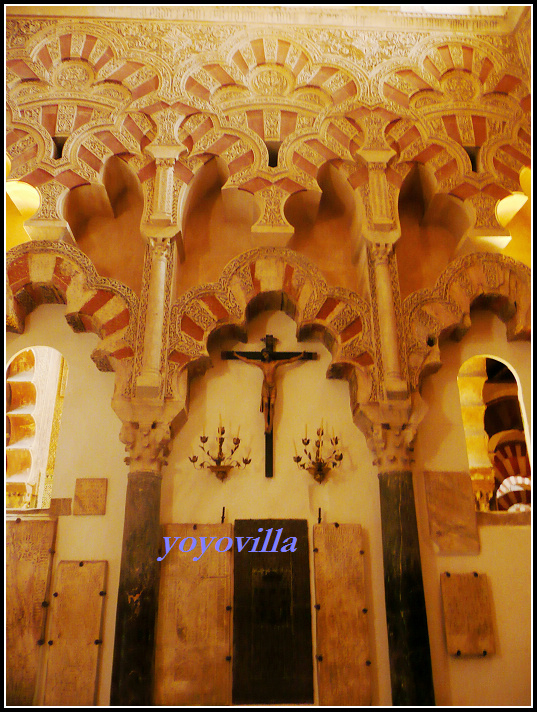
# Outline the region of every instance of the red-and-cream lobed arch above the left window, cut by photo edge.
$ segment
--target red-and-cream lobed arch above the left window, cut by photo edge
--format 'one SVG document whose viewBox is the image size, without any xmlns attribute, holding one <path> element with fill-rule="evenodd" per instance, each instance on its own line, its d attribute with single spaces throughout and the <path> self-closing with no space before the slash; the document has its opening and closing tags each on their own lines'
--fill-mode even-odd
<svg viewBox="0 0 537 712">
<path fill-rule="evenodd" d="M 28 242 L 8 252 L 6 271 L 8 331 L 22 334 L 26 317 L 40 304 L 65 304 L 74 332 L 101 339 L 91 355 L 100 371 L 134 358 L 138 298 L 124 284 L 100 277 L 78 248 Z"/>
</svg>

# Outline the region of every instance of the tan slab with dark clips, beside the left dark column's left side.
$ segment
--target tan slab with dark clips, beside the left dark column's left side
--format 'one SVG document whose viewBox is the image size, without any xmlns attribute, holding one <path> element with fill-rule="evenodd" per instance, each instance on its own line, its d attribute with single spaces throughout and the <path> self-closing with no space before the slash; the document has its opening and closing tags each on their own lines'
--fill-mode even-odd
<svg viewBox="0 0 537 712">
<path fill-rule="evenodd" d="M 50 605 L 43 704 L 96 704 L 106 561 L 60 561 Z"/>
</svg>

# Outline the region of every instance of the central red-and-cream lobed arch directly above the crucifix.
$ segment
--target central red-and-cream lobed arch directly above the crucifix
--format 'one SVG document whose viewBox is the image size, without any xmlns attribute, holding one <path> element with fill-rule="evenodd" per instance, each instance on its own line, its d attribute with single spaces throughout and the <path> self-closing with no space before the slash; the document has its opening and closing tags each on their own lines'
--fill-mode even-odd
<svg viewBox="0 0 537 712">
<path fill-rule="evenodd" d="M 331 288 L 319 270 L 286 248 L 257 248 L 239 255 L 218 282 L 185 293 L 171 309 L 166 397 L 180 377 L 210 367 L 208 342 L 229 334 L 246 340 L 246 324 L 264 310 L 282 310 L 299 339 L 320 338 L 332 354 L 327 376 L 350 382 L 353 409 L 378 391 L 370 306 L 353 292 Z"/>
</svg>

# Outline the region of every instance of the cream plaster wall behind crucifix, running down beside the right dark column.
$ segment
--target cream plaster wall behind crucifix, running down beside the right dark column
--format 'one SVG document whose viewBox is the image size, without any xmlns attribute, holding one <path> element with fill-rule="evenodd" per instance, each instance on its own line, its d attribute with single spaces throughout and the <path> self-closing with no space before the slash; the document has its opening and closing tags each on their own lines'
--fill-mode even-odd
<svg viewBox="0 0 537 712">
<path fill-rule="evenodd" d="M 317 361 L 294 363 L 277 371 L 273 479 L 265 477 L 264 469 L 264 419 L 259 411 L 261 370 L 240 361 L 223 361 L 219 355 L 223 349 L 259 351 L 263 347 L 261 337 L 266 333 L 280 340 L 277 351 L 307 350 L 319 354 Z M 176 436 L 168 458 L 162 483 L 161 521 L 219 522 L 223 507 L 227 522 L 253 518 L 307 519 L 310 547 L 319 507 L 323 522 L 361 524 L 371 613 L 373 704 L 390 705 L 378 478 L 365 438 L 352 422 L 347 382 L 326 378 L 329 352 L 318 341 L 298 343 L 296 325 L 283 312 L 260 314 L 249 324 L 248 344 L 222 342 L 211 357 L 214 367 L 192 384 L 189 418 Z M 245 455 L 251 452 L 252 459 L 246 469 L 232 471 L 224 482 L 209 471 L 195 470 L 188 460 L 190 455 L 203 454 L 199 449 L 199 436 L 203 432 L 215 442 L 220 414 L 226 435 L 235 435 L 240 425 L 242 442 L 237 454 L 242 450 Z M 309 473 L 298 469 L 293 456 L 295 443 L 299 453 L 303 449 L 305 426 L 312 437 L 321 425 L 321 418 L 325 429 L 330 434 L 333 429 L 341 439 L 343 461 L 327 482 L 318 484 Z M 172 550 L 169 556 L 174 555 L 186 556 Z M 313 571 L 313 562 L 310 564 Z M 313 578 L 311 583 L 313 592 Z M 312 601 L 315 602 L 313 594 Z"/>
</svg>

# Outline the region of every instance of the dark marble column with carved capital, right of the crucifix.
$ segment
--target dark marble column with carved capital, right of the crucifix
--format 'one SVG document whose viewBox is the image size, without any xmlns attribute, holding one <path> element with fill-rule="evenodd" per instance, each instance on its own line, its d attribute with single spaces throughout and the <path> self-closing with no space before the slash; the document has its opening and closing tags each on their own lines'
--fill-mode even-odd
<svg viewBox="0 0 537 712">
<path fill-rule="evenodd" d="M 378 468 L 384 594 L 392 702 L 434 705 L 427 611 L 412 484 L 412 441 L 425 413 L 421 398 L 364 406 L 355 422 Z"/>
</svg>

